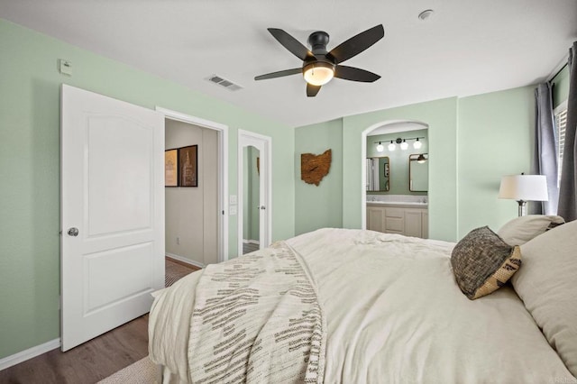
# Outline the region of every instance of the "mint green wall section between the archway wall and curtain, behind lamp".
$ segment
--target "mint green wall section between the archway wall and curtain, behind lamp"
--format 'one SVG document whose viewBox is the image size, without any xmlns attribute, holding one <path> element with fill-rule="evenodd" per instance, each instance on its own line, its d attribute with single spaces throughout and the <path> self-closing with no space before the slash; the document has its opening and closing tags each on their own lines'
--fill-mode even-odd
<svg viewBox="0 0 577 384">
<path fill-rule="evenodd" d="M 459 238 L 517 216 L 517 202 L 497 198 L 503 175 L 530 173 L 535 87 L 459 99 Z"/>
</svg>

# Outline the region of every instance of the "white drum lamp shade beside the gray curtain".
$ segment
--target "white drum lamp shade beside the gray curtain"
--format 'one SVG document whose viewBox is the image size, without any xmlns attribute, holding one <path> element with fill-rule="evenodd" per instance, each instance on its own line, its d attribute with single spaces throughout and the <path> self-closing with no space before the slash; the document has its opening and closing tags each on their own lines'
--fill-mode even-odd
<svg viewBox="0 0 577 384">
<path fill-rule="evenodd" d="M 501 178 L 499 198 L 523 201 L 547 201 L 547 178 L 544 175 L 510 175 Z"/>
</svg>

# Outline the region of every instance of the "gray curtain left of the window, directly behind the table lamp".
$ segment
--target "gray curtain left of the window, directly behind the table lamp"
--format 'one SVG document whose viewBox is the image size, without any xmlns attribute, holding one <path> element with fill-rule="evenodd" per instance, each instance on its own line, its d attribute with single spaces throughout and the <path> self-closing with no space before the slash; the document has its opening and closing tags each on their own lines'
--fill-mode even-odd
<svg viewBox="0 0 577 384">
<path fill-rule="evenodd" d="M 533 215 L 557 215 L 559 188 L 557 187 L 557 148 L 553 117 L 553 95 L 551 84 L 542 83 L 536 87 L 535 150 L 532 173 L 547 177 L 549 200 L 534 202 L 529 206 Z"/>
</svg>

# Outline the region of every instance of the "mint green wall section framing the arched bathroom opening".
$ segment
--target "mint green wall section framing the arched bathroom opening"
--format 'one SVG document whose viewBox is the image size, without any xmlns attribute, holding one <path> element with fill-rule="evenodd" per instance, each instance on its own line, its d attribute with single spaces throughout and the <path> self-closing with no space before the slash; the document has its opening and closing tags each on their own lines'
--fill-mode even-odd
<svg viewBox="0 0 577 384">
<path fill-rule="evenodd" d="M 429 236 L 457 238 L 457 99 L 343 117 L 343 227 L 362 227 L 362 132 L 391 121 L 429 125 Z M 298 151 L 298 143 L 296 142 Z"/>
</svg>

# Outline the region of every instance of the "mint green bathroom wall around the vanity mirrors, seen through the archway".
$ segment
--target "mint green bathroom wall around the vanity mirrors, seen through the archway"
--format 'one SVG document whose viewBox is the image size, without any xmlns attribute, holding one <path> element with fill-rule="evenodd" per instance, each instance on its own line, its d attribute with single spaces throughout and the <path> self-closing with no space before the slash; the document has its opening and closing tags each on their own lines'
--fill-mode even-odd
<svg viewBox="0 0 577 384">
<path fill-rule="evenodd" d="M 398 137 L 401 139 L 408 137 L 425 137 L 425 139 L 419 139 L 419 142 L 422 142 L 422 146 L 418 150 L 413 148 L 413 142 L 415 141 L 410 141 L 407 151 L 402 151 L 398 147 L 398 144 L 395 151 L 389 151 L 388 145 L 390 141 L 394 141 Z M 382 152 L 377 151 L 377 144 L 375 144 L 375 142 L 382 142 L 385 150 Z M 428 130 L 426 129 L 367 136 L 367 157 L 387 156 L 390 162 L 389 191 L 370 192 L 369 195 L 426 195 L 426 192 L 411 192 L 408 188 L 408 156 L 413 153 L 427 153 L 428 151 Z"/>
</svg>

